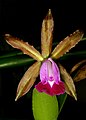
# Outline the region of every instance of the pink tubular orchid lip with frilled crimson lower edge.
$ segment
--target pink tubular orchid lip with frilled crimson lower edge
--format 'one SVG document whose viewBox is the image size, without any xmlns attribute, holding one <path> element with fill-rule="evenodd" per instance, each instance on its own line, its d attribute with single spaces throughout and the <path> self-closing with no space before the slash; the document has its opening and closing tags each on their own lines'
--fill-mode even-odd
<svg viewBox="0 0 86 120">
<path fill-rule="evenodd" d="M 40 68 L 40 80 L 35 88 L 39 92 L 45 92 L 51 96 L 65 92 L 64 83 L 60 80 L 60 72 L 57 64 L 48 58 Z"/>
</svg>

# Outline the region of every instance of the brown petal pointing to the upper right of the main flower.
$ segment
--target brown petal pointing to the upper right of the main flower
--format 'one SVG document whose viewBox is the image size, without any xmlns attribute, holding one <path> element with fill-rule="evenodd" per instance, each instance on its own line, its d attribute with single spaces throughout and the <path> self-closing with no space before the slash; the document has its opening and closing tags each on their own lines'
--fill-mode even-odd
<svg viewBox="0 0 86 120">
<path fill-rule="evenodd" d="M 51 53 L 51 57 L 58 59 L 66 52 L 68 52 L 72 47 L 74 47 L 83 37 L 83 32 L 76 30 L 70 36 L 67 36 L 63 41 L 61 41 Z"/>
</svg>

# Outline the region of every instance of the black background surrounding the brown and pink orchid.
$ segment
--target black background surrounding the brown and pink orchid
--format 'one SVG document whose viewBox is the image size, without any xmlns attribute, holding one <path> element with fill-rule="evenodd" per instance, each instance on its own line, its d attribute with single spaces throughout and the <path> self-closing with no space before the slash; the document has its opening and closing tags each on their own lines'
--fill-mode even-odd
<svg viewBox="0 0 86 120">
<path fill-rule="evenodd" d="M 49 8 L 55 23 L 54 41 L 61 41 L 77 29 L 86 34 L 84 0 L 0 0 L 0 38 L 10 33 L 39 46 L 42 20 Z M 4 45 L 3 48 L 0 53 L 7 50 Z M 77 49 L 85 49 L 85 44 L 79 44 Z M 0 120 L 33 120 L 31 94 L 14 101 L 17 85 L 27 68 L 0 70 Z M 78 101 L 68 96 L 58 120 L 86 119 L 85 86 L 85 80 L 76 84 Z"/>
</svg>

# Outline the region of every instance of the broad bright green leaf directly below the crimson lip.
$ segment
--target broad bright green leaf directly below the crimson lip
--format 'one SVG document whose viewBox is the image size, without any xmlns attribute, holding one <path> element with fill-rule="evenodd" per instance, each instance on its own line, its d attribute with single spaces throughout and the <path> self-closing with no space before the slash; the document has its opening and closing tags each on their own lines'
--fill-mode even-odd
<svg viewBox="0 0 86 120">
<path fill-rule="evenodd" d="M 35 120 L 57 120 L 59 107 L 56 96 L 33 90 L 32 109 Z"/>
</svg>

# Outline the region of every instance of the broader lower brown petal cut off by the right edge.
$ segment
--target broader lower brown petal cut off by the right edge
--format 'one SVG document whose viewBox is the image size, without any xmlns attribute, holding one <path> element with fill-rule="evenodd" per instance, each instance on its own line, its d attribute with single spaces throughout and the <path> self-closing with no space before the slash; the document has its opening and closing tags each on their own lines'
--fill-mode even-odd
<svg viewBox="0 0 86 120">
<path fill-rule="evenodd" d="M 74 77 L 74 82 L 78 82 L 83 79 L 86 79 L 86 65 L 84 65 L 80 70 L 78 70 L 77 74 Z"/>
</svg>

